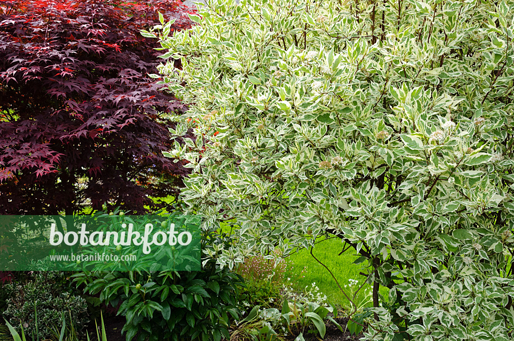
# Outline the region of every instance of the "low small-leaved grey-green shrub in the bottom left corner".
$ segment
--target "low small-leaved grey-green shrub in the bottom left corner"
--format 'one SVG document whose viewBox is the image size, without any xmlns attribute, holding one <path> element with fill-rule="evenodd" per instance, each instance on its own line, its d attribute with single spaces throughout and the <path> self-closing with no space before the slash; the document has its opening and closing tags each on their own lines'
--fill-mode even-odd
<svg viewBox="0 0 514 341">
<path fill-rule="evenodd" d="M 63 272 L 49 271 L 33 272 L 26 280 L 6 283 L 10 299 L 5 318 L 17 331 L 23 327 L 27 335 L 40 339 L 53 335 L 51 328 L 62 325 L 62 316 L 66 324 L 80 332 L 89 321 L 87 304 L 66 281 Z"/>
</svg>

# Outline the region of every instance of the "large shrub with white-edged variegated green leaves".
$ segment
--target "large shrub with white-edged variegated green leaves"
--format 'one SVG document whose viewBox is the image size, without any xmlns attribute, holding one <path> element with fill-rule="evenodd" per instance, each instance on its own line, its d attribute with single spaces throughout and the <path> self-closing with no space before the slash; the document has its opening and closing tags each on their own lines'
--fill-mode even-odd
<svg viewBox="0 0 514 341">
<path fill-rule="evenodd" d="M 364 339 L 514 338 L 514 2 L 218 0 L 198 14 L 147 34 L 190 104 L 166 154 L 192 168 L 183 199 L 208 229 L 234 224 L 218 262 L 337 236 L 373 285 Z"/>
</svg>

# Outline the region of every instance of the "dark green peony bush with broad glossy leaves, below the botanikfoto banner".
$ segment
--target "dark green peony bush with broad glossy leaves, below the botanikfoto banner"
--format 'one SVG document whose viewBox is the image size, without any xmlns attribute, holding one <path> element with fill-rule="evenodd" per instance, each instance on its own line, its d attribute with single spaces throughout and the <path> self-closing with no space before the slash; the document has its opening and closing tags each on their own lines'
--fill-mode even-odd
<svg viewBox="0 0 514 341">
<path fill-rule="evenodd" d="M 203 237 L 202 249 L 216 252 L 229 243 L 226 235 Z M 117 306 L 126 317 L 126 340 L 201 340 L 229 338 L 228 327 L 237 319 L 241 276 L 203 260 L 201 271 L 84 272 L 74 275 L 90 294 L 100 293 L 105 304 Z"/>
</svg>

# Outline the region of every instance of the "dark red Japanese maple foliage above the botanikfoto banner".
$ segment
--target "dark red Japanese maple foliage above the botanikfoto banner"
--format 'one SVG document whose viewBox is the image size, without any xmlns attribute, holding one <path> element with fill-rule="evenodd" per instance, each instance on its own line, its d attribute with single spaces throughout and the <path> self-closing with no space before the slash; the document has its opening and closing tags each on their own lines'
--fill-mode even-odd
<svg viewBox="0 0 514 341">
<path fill-rule="evenodd" d="M 159 86 L 156 40 L 140 29 L 180 1 L 0 1 L 0 214 L 71 214 L 110 201 L 144 212 L 187 169 L 164 113 L 186 108 Z"/>
</svg>

